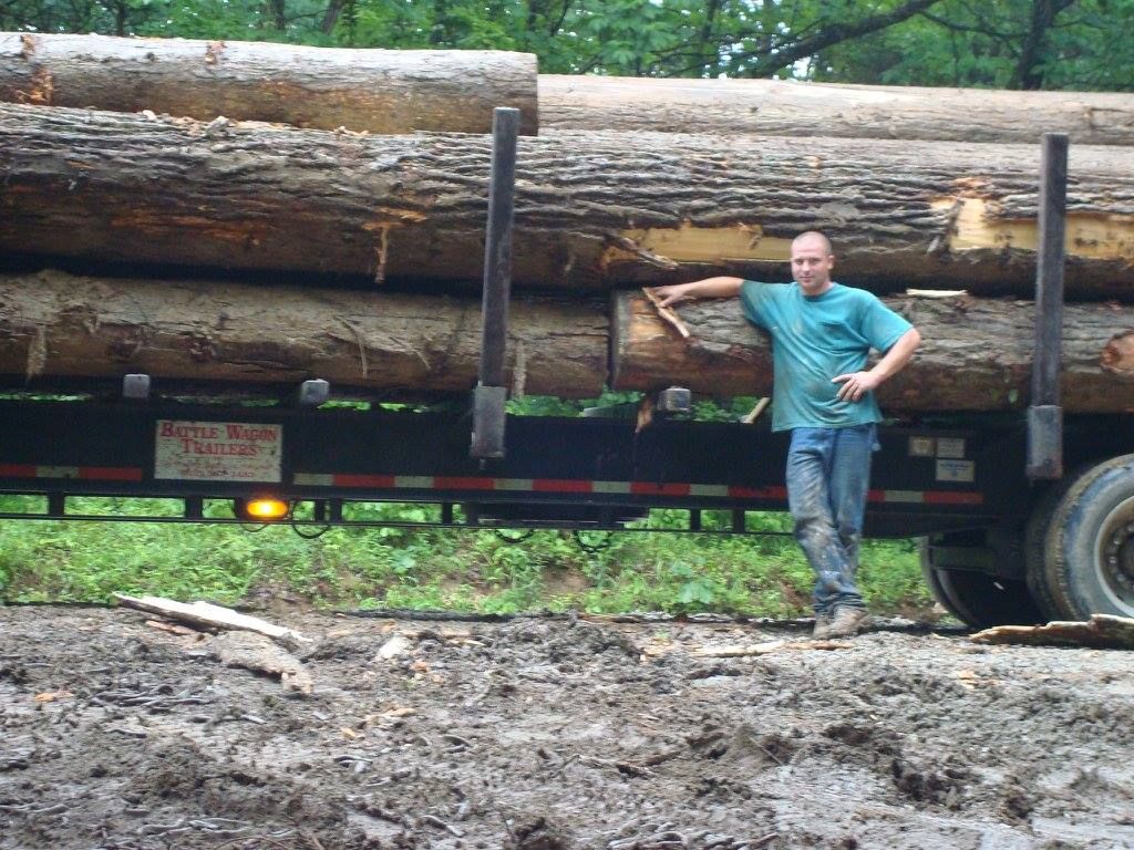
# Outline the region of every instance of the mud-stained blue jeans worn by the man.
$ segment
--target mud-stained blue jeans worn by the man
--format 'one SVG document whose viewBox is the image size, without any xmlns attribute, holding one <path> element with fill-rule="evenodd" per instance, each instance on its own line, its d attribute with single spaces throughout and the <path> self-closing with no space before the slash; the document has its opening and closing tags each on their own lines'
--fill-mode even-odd
<svg viewBox="0 0 1134 850">
<path fill-rule="evenodd" d="M 787 501 L 795 539 L 815 572 L 814 609 L 864 607 L 855 585 L 874 425 L 795 428 L 787 454 Z"/>
</svg>

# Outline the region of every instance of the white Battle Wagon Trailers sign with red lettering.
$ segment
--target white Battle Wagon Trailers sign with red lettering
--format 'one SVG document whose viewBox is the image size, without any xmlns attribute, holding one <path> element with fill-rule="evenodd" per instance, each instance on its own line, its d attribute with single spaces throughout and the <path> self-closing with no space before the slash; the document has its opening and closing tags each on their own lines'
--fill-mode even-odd
<svg viewBox="0 0 1134 850">
<path fill-rule="evenodd" d="M 281 443 L 281 425 L 158 419 L 153 475 L 176 481 L 279 483 Z"/>
</svg>

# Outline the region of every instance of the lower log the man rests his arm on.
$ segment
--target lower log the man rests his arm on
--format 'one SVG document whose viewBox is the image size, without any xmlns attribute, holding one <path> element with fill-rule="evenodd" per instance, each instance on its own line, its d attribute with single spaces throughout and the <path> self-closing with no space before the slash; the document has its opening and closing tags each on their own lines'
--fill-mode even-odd
<svg viewBox="0 0 1134 850">
<path fill-rule="evenodd" d="M 1031 301 L 968 296 L 886 301 L 924 340 L 911 364 L 879 390 L 888 413 L 1027 406 L 1035 339 Z M 617 295 L 613 389 L 676 385 L 721 397 L 771 394 L 768 338 L 743 318 L 735 299 L 677 309 L 692 333 L 688 341 L 640 294 Z M 1134 410 L 1134 307 L 1065 305 L 1061 384 L 1069 413 Z"/>
</svg>

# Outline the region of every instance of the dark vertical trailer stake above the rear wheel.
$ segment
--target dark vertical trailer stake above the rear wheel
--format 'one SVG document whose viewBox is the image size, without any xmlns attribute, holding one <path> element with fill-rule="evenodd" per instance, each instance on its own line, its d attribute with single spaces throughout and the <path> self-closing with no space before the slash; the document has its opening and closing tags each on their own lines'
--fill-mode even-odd
<svg viewBox="0 0 1134 850">
<path fill-rule="evenodd" d="M 1064 231 L 1067 218 L 1067 134 L 1043 134 L 1040 161 L 1040 243 L 1035 267 L 1035 356 L 1027 408 L 1027 477 L 1063 477 Z"/>
</svg>

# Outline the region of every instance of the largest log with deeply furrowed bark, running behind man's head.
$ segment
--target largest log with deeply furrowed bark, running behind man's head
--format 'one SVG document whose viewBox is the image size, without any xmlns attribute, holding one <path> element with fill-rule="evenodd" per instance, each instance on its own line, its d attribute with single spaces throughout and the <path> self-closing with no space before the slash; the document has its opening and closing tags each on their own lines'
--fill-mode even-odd
<svg viewBox="0 0 1134 850">
<path fill-rule="evenodd" d="M 0 253 L 428 280 L 482 271 L 490 139 L 0 104 Z M 1134 172 L 1070 154 L 1067 291 L 1134 298 Z M 776 279 L 827 231 L 878 291 L 1029 291 L 1039 146 L 674 134 L 521 142 L 514 281 Z"/>
</svg>

